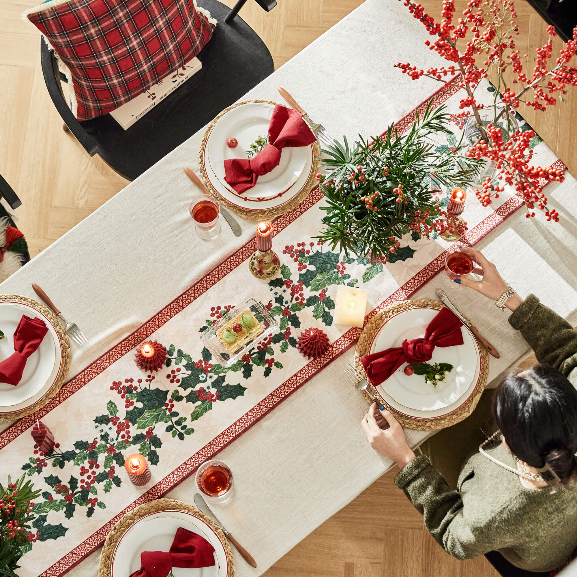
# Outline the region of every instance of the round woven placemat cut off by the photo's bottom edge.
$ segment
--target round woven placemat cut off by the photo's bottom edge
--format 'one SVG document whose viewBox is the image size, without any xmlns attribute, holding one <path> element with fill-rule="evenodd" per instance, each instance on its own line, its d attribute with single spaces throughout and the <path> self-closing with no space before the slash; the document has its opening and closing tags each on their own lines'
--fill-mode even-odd
<svg viewBox="0 0 577 577">
<path fill-rule="evenodd" d="M 194 516 L 207 522 L 212 529 L 215 530 L 216 534 L 220 537 L 223 542 L 224 550 L 228 559 L 228 575 L 227 577 L 234 576 L 234 560 L 233 560 L 233 550 L 231 549 L 228 539 L 224 536 L 222 529 L 207 515 L 198 511 L 194 505 L 189 505 L 184 501 L 177 501 L 175 499 L 156 499 L 150 503 L 145 503 L 144 505 L 139 505 L 138 507 L 132 509 L 126 515 L 120 519 L 115 526 L 110 530 L 102 546 L 102 551 L 100 552 L 100 564 L 98 566 L 98 577 L 110 577 L 111 576 L 111 564 L 114 555 L 114 550 L 118 545 L 118 541 L 122 535 L 130 529 L 133 523 L 135 523 L 141 517 L 145 515 L 150 515 L 151 513 L 158 513 L 159 511 L 186 511 L 187 513 L 192 513 Z M 125 576 L 125 577 L 128 577 Z"/>
</svg>

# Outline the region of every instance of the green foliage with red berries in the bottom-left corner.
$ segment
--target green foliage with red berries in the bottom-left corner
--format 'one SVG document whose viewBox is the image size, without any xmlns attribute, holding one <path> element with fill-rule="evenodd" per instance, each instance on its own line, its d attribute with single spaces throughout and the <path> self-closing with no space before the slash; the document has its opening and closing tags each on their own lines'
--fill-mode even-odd
<svg viewBox="0 0 577 577">
<path fill-rule="evenodd" d="M 38 538 L 29 523 L 36 519 L 30 513 L 32 499 L 40 491 L 33 490 L 32 481 L 24 482 L 22 475 L 15 483 L 8 476 L 6 488 L 0 484 L 0 576 L 17 577 L 18 560 Z"/>
</svg>

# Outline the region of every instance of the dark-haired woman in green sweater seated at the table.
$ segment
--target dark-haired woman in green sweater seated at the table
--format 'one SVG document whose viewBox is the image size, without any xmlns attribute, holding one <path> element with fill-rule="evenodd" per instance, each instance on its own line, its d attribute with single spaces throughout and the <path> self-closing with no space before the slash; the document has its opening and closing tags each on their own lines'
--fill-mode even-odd
<svg viewBox="0 0 577 577">
<path fill-rule="evenodd" d="M 389 411 L 373 404 L 362 425 L 370 445 L 400 467 L 395 484 L 447 553 L 499 550 L 517 567 L 549 571 L 577 545 L 577 333 L 534 295 L 521 301 L 478 250 L 467 252 L 483 278 L 460 284 L 511 310 L 509 323 L 539 364 L 485 391 L 469 417 L 425 441 L 418 456 Z"/>
</svg>

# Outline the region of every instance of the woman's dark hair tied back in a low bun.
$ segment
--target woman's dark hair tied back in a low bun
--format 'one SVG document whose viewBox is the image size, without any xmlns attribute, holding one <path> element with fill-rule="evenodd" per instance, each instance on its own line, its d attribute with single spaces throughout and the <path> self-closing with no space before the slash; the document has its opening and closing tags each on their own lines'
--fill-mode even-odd
<svg viewBox="0 0 577 577">
<path fill-rule="evenodd" d="M 577 477 L 577 390 L 567 377 L 545 365 L 509 374 L 492 409 L 517 458 L 531 467 L 549 463 L 564 483 Z"/>
</svg>

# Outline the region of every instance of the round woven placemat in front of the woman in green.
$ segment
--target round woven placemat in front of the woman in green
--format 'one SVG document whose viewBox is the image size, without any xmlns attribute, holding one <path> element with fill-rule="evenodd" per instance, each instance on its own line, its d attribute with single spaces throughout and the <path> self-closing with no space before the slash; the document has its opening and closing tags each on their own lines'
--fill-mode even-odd
<svg viewBox="0 0 577 577">
<path fill-rule="evenodd" d="M 462 421 L 464 418 L 469 417 L 473 410 L 477 406 L 481 394 L 485 389 L 487 384 L 487 375 L 489 374 L 489 354 L 487 353 L 485 347 L 477 341 L 479 346 L 479 351 L 481 353 L 481 373 L 479 374 L 479 380 L 477 386 L 473 390 L 473 394 L 467 399 L 458 409 L 455 409 L 451 413 L 443 415 L 443 417 L 436 417 L 432 419 L 420 419 L 415 417 L 406 417 L 400 414 L 398 411 L 393 409 L 377 392 L 377 389 L 373 387 L 369 379 L 366 376 L 365 368 L 362 366 L 361 357 L 369 354 L 370 343 L 373 340 L 374 335 L 381 328 L 383 323 L 390 319 L 394 314 L 401 312 L 406 309 L 413 309 L 418 306 L 430 306 L 434 309 L 442 309 L 443 303 L 439 301 L 429 301 L 427 299 L 415 299 L 413 301 L 403 301 L 396 305 L 391 305 L 388 308 L 377 313 L 363 329 L 361 336 L 357 342 L 357 348 L 355 349 L 355 369 L 357 373 L 362 375 L 369 383 L 368 389 L 372 395 L 374 395 L 383 407 L 391 411 L 395 415 L 396 419 L 404 427 L 409 429 L 419 430 L 419 431 L 430 431 L 439 430 L 449 427 L 451 425 L 456 425 L 458 422 Z M 468 320 L 468 319 L 467 319 Z M 370 398 L 368 395 L 364 394 L 366 402 L 370 404 Z"/>
</svg>

